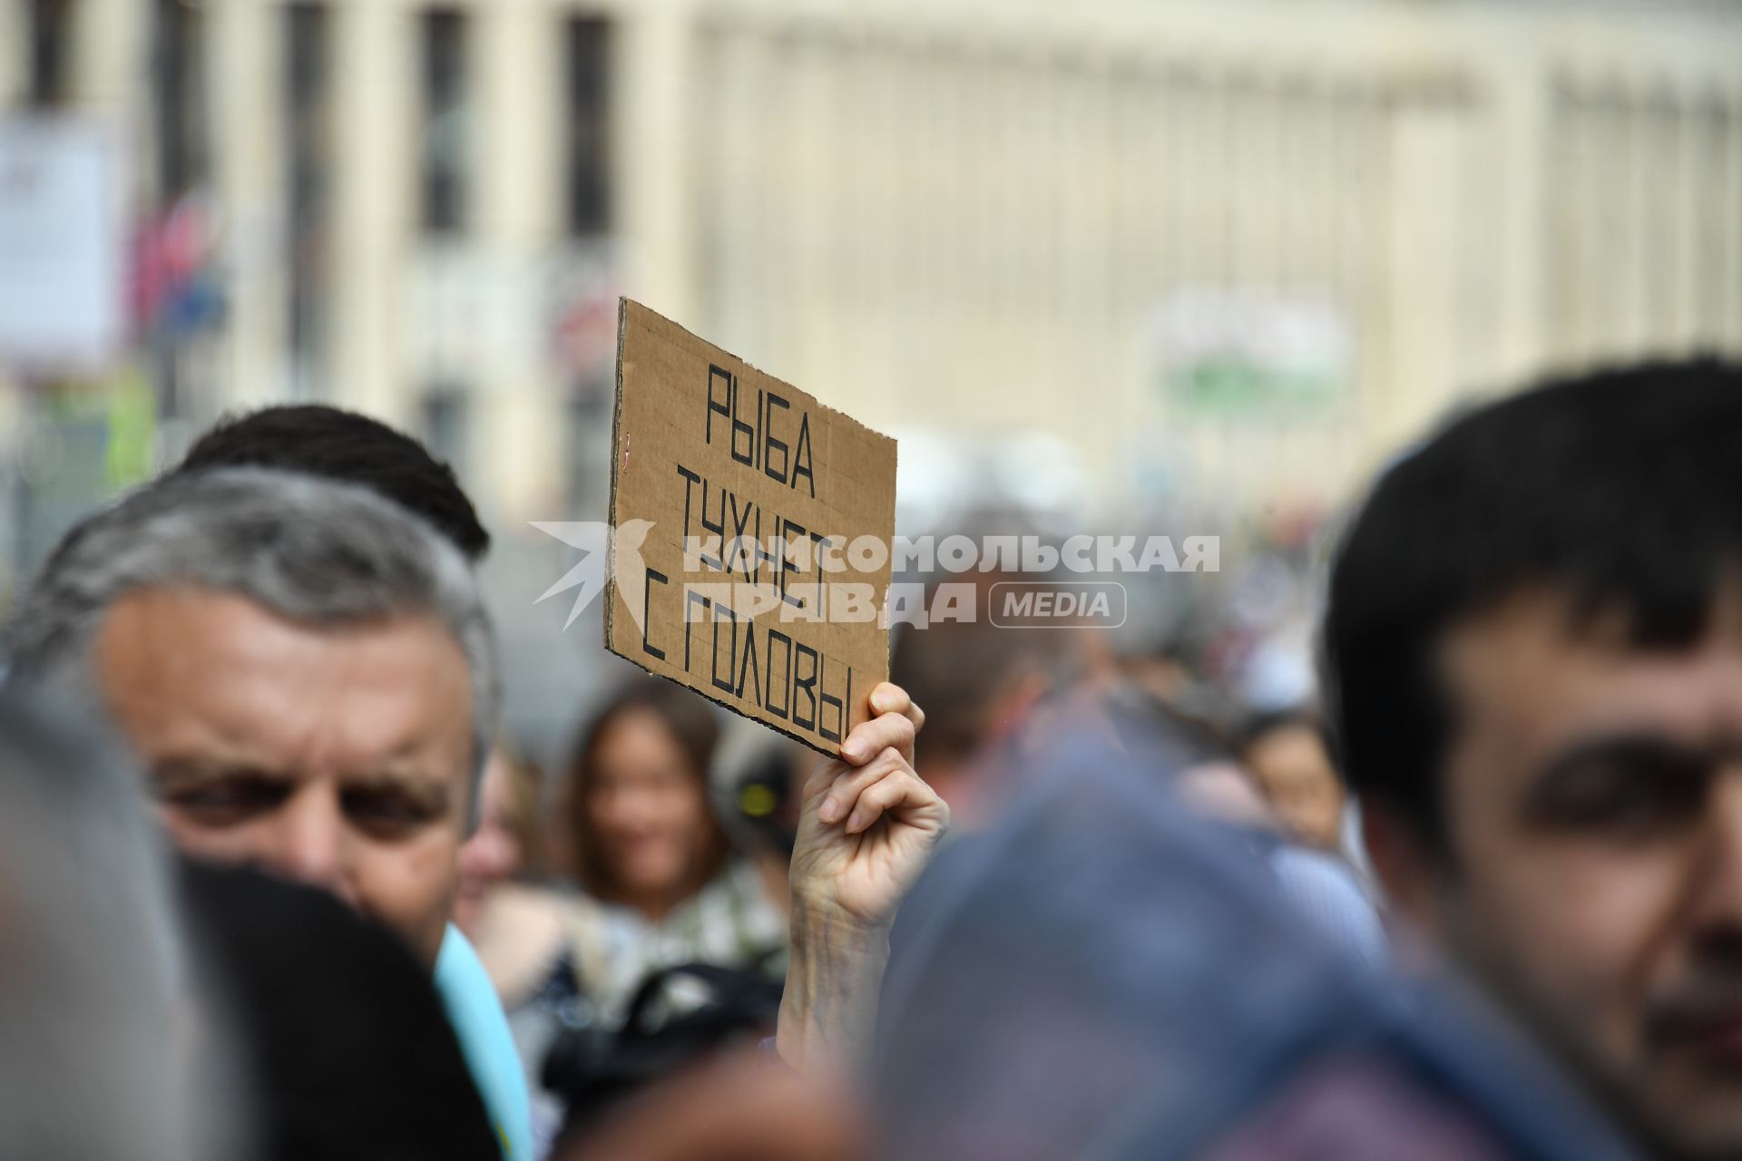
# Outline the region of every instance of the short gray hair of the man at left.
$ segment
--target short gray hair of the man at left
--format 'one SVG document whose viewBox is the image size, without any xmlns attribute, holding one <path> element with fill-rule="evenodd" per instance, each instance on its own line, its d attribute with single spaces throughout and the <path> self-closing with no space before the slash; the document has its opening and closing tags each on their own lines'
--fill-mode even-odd
<svg viewBox="0 0 1742 1161">
<path fill-rule="evenodd" d="M 9 677 L 94 693 L 92 646 L 131 592 L 199 587 L 333 628 L 437 618 L 472 679 L 472 820 L 500 686 L 490 618 L 460 552 L 406 508 L 352 484 L 272 468 L 169 475 L 77 524 L 7 630 Z"/>
</svg>

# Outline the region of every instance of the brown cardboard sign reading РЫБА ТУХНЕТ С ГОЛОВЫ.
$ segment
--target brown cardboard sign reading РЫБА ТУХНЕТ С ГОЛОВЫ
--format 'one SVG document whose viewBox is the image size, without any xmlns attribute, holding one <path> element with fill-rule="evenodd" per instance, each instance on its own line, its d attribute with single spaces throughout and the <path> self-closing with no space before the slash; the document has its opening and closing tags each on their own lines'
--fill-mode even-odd
<svg viewBox="0 0 1742 1161">
<path fill-rule="evenodd" d="M 622 299 L 604 646 L 836 754 L 888 677 L 895 440 Z"/>
</svg>

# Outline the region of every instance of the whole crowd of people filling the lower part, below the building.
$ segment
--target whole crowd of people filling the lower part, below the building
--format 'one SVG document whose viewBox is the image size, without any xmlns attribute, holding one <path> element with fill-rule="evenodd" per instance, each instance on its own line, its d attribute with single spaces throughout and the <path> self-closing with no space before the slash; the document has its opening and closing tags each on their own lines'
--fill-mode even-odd
<svg viewBox="0 0 1742 1161">
<path fill-rule="evenodd" d="M 225 419 L 7 618 L 0 1156 L 1739 1158 L 1737 430 L 1458 416 L 1286 696 L 934 620 L 838 755 L 624 665 L 540 768 L 463 480 Z"/>
</svg>

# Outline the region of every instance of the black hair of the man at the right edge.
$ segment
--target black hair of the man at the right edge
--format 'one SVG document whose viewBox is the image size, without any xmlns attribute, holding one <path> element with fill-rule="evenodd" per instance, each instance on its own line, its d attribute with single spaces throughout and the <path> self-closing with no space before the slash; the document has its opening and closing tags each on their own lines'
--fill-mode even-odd
<svg viewBox="0 0 1742 1161">
<path fill-rule="evenodd" d="M 1474 411 L 1373 487 L 1331 567 L 1322 665 L 1354 790 L 1444 841 L 1456 707 L 1435 677 L 1456 623 L 1526 588 L 1570 632 L 1625 618 L 1639 649 L 1707 628 L 1742 564 L 1742 366 L 1655 362 Z"/>
</svg>

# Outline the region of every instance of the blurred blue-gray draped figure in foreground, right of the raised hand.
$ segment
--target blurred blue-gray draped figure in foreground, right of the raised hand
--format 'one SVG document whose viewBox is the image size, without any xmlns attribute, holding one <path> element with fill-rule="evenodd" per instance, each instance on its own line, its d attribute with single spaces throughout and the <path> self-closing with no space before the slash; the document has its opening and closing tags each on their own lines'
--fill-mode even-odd
<svg viewBox="0 0 1742 1161">
<path fill-rule="evenodd" d="M 1009 752 L 1005 809 L 915 888 L 869 1156 L 1634 1156 L 1479 996 L 1374 971 L 1301 916 L 1252 858 L 1273 836 L 1183 809 L 1193 745 L 1111 712 L 1117 738 L 1066 719 Z"/>
</svg>

